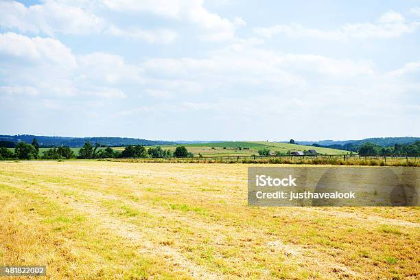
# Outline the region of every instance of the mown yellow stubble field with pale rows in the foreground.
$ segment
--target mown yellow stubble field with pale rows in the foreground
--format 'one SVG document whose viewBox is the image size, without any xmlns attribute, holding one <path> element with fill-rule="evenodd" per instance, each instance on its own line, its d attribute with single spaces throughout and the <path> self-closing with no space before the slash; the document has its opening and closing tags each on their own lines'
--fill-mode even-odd
<svg viewBox="0 0 420 280">
<path fill-rule="evenodd" d="M 0 263 L 47 279 L 420 277 L 419 207 L 247 207 L 246 167 L 1 162 Z"/>
</svg>

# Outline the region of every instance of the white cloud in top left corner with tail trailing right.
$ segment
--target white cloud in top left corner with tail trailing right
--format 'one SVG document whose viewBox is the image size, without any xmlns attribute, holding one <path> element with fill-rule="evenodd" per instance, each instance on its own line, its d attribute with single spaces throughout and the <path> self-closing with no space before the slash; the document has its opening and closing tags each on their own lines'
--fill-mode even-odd
<svg viewBox="0 0 420 280">
<path fill-rule="evenodd" d="M 81 5 L 81 7 L 75 5 Z M 32 34 L 109 34 L 145 40 L 148 43 L 172 43 L 176 33 L 171 30 L 121 28 L 84 9 L 87 2 L 45 1 L 28 8 L 16 1 L 0 2 L 0 27 Z"/>
</svg>

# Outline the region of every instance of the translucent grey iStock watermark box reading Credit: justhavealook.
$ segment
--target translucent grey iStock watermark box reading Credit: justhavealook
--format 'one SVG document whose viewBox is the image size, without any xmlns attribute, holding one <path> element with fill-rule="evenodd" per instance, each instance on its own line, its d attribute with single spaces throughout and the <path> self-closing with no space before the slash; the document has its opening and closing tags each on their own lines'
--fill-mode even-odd
<svg viewBox="0 0 420 280">
<path fill-rule="evenodd" d="M 420 206 L 420 167 L 248 167 L 250 206 Z"/>
</svg>

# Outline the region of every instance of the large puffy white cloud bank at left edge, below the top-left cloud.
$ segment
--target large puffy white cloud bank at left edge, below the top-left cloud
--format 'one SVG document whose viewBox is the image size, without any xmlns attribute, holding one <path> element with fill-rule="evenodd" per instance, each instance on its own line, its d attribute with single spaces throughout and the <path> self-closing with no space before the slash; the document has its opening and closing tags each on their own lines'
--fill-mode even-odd
<svg viewBox="0 0 420 280">
<path fill-rule="evenodd" d="M 74 55 L 54 38 L 0 34 L 1 93 L 50 97 L 126 98 L 124 84 L 141 84 L 141 69 L 121 56 Z"/>
</svg>

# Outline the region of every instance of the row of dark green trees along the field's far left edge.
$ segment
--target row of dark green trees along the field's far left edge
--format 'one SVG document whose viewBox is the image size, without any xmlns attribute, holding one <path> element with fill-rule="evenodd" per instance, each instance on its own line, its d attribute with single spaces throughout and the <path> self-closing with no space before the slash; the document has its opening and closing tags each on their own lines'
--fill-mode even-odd
<svg viewBox="0 0 420 280">
<path fill-rule="evenodd" d="M 176 147 L 175 151 L 163 150 L 161 147 L 146 148 L 143 145 L 128 145 L 119 151 L 113 148 L 103 148 L 100 143 L 92 145 L 85 142 L 78 155 L 67 145 L 49 148 L 42 155 L 39 153 L 38 141 L 34 138 L 31 144 L 23 141 L 16 144 L 14 152 L 6 147 L 0 147 L 0 159 L 124 159 L 124 158 L 161 158 L 193 157 L 185 146 Z"/>
</svg>

